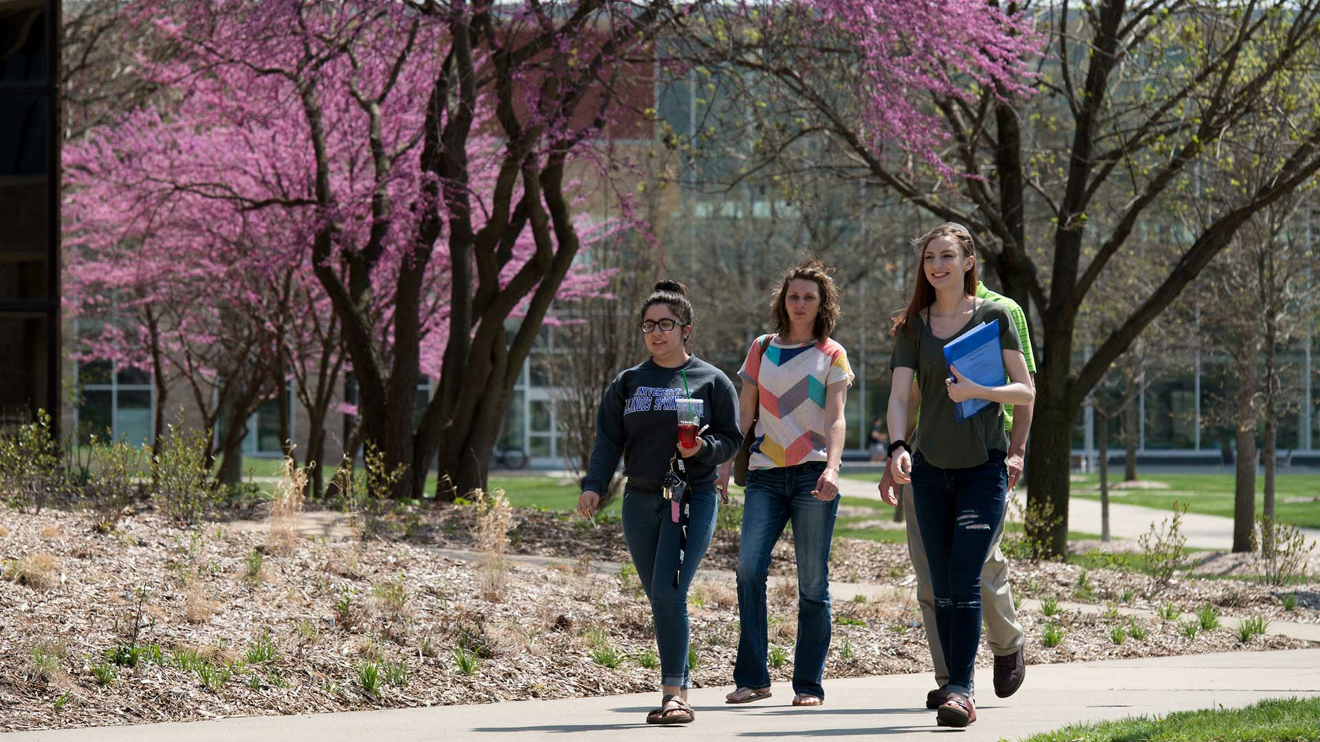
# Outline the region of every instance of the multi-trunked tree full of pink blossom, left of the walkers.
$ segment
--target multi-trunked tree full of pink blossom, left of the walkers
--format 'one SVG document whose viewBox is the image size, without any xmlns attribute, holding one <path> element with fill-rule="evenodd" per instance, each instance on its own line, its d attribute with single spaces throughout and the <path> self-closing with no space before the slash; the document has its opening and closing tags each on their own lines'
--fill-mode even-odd
<svg viewBox="0 0 1320 742">
<path fill-rule="evenodd" d="M 173 95 L 74 148 L 75 198 L 92 202 L 102 181 L 121 198 L 70 228 L 129 240 L 107 250 L 139 238 L 150 246 L 139 256 L 160 251 L 152 264 L 168 264 L 173 285 L 158 275 L 135 296 L 240 313 L 244 322 L 189 314 L 174 326 L 214 347 L 218 327 L 249 325 L 271 378 L 284 378 L 281 359 L 338 367 L 337 326 L 363 437 L 411 470 L 399 494 L 418 494 L 437 455 L 461 487 L 483 486 L 550 304 L 599 283 L 574 256 L 607 231 L 574 218 L 568 172 L 603 165 L 572 157 L 607 143 L 602 75 L 616 77 L 620 49 L 645 44 L 663 16 L 661 4 L 590 5 L 131 3 L 140 28 L 176 51 L 143 59 L 144 77 Z M 116 214 L 120 228 L 102 228 Z M 304 346 L 318 350 L 293 350 Z M 413 425 L 422 374 L 440 388 Z"/>
</svg>

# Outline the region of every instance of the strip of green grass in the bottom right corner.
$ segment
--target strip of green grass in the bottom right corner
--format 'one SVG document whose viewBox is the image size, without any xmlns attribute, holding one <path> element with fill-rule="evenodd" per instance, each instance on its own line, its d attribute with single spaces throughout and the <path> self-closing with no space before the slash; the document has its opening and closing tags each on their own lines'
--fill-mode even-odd
<svg viewBox="0 0 1320 742">
<path fill-rule="evenodd" d="M 1245 709 L 1177 712 L 1080 724 L 1022 742 L 1312 742 L 1320 698 L 1270 698 Z"/>
</svg>

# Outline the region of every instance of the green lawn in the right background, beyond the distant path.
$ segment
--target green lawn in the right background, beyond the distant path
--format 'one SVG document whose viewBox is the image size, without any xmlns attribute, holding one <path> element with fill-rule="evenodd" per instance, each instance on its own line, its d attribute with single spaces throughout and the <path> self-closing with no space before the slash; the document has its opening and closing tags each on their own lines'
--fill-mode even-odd
<svg viewBox="0 0 1320 742">
<path fill-rule="evenodd" d="M 1119 479 L 1122 470 L 1119 470 Z M 1173 502 L 1187 504 L 1188 512 L 1233 518 L 1233 474 L 1151 474 L 1142 477 L 1168 485 L 1167 490 L 1110 490 L 1113 503 L 1172 510 Z M 1265 478 L 1255 479 L 1257 515 L 1265 507 Z M 1073 482 L 1072 496 L 1100 499 L 1100 478 L 1090 474 Z M 1280 523 L 1303 528 L 1320 528 L 1320 475 L 1287 474 L 1275 479 L 1274 511 Z M 1292 500 L 1292 502 L 1290 502 Z"/>
</svg>

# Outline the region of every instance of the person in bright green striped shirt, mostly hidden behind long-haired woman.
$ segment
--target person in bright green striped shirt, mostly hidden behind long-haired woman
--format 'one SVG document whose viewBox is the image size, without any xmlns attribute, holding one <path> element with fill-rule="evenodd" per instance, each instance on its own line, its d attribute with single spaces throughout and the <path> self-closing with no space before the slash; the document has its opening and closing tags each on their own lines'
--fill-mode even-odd
<svg viewBox="0 0 1320 742">
<path fill-rule="evenodd" d="M 1031 350 L 1031 337 L 1027 333 L 1027 316 L 1022 306 L 986 288 L 983 283 L 977 283 L 977 297 L 1002 304 L 1008 309 L 1014 323 L 1018 326 L 1018 338 L 1022 341 L 1022 354 L 1027 360 L 1027 371 L 1031 374 L 1031 383 L 1036 383 L 1036 359 Z M 1007 380 L 1007 376 L 1006 376 Z M 912 395 L 908 399 L 921 399 L 912 382 Z M 916 430 L 917 415 L 913 409 L 908 421 L 907 436 L 903 440 L 911 441 Z M 1003 426 L 1008 430 L 1008 455 L 1005 465 L 1008 469 L 1008 491 L 1018 485 L 1022 478 L 1023 459 L 1027 454 L 1027 436 L 1031 433 L 1031 405 L 1005 405 Z M 890 475 L 890 467 L 884 467 L 880 478 L 880 496 L 890 504 L 899 503 L 899 494 Z M 940 638 L 935 628 L 935 593 L 931 589 L 931 568 L 925 560 L 925 549 L 921 547 L 921 531 L 916 525 L 916 516 L 912 512 L 912 486 L 904 486 L 903 520 L 907 523 L 908 556 L 912 558 L 912 569 L 916 573 L 916 599 L 921 606 L 921 621 L 925 626 L 927 643 L 931 647 L 931 659 L 935 661 L 935 681 L 939 685 L 927 694 L 925 705 L 929 709 L 939 708 L 945 701 L 944 687 L 949 683 L 949 667 L 940 651 Z M 1018 623 L 1018 611 L 1012 607 L 1012 591 L 1008 588 L 1008 560 L 999 549 L 1003 539 L 1003 522 L 994 537 L 994 547 L 986 557 L 985 568 L 981 570 L 981 615 L 986 624 L 986 639 L 994 652 L 994 691 L 1001 698 L 1006 698 L 1018 692 L 1027 675 L 1027 665 L 1023 660 L 1024 636 L 1022 624 Z"/>
</svg>

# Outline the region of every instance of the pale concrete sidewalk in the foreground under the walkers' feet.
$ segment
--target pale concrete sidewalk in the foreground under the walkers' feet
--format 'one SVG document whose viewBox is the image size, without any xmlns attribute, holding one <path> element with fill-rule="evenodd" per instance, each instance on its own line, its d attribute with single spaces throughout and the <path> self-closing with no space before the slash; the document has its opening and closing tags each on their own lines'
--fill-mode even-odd
<svg viewBox="0 0 1320 742">
<path fill-rule="evenodd" d="M 1230 652 L 1034 665 L 1011 698 L 995 698 L 990 672 L 978 672 L 979 720 L 969 739 L 1020 739 L 1067 724 L 1129 716 L 1164 716 L 1175 710 L 1245 706 L 1270 697 L 1320 694 L 1320 650 Z M 929 675 L 891 675 L 826 680 L 826 704 L 789 706 L 783 683 L 759 704 L 730 706 L 731 688 L 692 692 L 697 720 L 675 734 L 702 739 L 775 737 L 862 739 L 883 735 L 895 742 L 931 739 L 952 731 L 935 725 L 924 709 Z M 248 717 L 190 724 L 11 733 L 5 742 L 189 742 L 286 741 L 359 742 L 370 735 L 391 742 L 469 739 L 622 739 L 665 734 L 644 724 L 657 693 L 511 701 L 477 706 L 440 706 L 381 712 L 348 712 L 292 717 Z M 1320 733 L 1320 722 L 1317 722 Z"/>
</svg>

